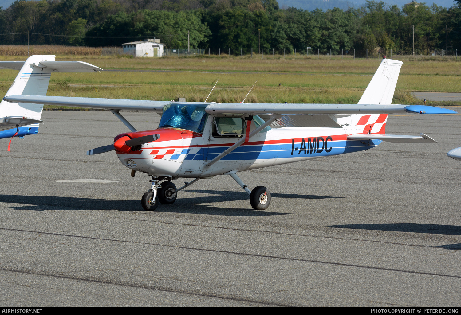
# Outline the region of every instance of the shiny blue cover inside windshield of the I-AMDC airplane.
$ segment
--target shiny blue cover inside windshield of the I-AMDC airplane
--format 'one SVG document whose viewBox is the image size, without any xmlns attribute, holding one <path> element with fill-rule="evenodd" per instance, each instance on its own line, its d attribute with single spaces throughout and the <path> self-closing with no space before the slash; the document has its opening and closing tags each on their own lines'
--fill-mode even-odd
<svg viewBox="0 0 461 315">
<path fill-rule="evenodd" d="M 168 104 L 163 106 L 159 128 L 186 129 L 201 134 L 207 120 L 205 107 L 200 105 Z"/>
</svg>

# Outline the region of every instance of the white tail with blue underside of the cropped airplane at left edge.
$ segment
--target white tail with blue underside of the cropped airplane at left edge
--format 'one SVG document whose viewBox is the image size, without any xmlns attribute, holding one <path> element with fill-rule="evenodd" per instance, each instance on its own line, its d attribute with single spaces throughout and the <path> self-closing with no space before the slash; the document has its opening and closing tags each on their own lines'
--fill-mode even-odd
<svg viewBox="0 0 461 315">
<path fill-rule="evenodd" d="M 54 61 L 54 55 L 34 55 L 26 61 L 0 61 L 0 69 L 19 70 L 8 95 L 47 95 L 53 72 L 97 72 L 102 70 L 83 61 Z M 43 105 L 0 102 L 0 139 L 38 134 Z M 11 144 L 11 140 L 10 140 Z M 8 151 L 10 151 L 10 144 Z"/>
</svg>

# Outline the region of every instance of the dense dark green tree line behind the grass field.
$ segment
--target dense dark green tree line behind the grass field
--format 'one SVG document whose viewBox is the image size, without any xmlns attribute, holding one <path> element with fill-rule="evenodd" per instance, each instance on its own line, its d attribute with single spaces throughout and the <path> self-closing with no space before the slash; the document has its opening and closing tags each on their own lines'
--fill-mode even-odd
<svg viewBox="0 0 461 315">
<path fill-rule="evenodd" d="M 0 8 L 0 44 L 120 46 L 160 38 L 169 48 L 240 54 L 378 51 L 406 54 L 414 48 L 453 54 L 461 41 L 461 0 L 446 8 L 413 2 L 359 8 L 280 9 L 276 0 L 16 0 Z M 23 34 L 11 34 L 23 33 Z M 33 34 L 32 34 L 33 33 Z"/>
</svg>

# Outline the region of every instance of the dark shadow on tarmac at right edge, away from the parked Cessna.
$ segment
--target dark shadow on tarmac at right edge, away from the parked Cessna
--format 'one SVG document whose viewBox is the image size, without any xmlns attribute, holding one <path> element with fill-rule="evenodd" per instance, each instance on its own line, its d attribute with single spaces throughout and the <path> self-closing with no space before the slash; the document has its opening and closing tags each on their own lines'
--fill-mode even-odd
<svg viewBox="0 0 461 315">
<path fill-rule="evenodd" d="M 328 227 L 354 228 L 354 229 L 360 229 L 360 230 L 377 230 L 377 231 L 392 231 L 392 232 L 461 235 L 461 226 L 443 225 L 443 224 L 376 223 L 376 224 L 330 225 Z M 450 248 L 454 248 L 456 245 L 459 245 L 459 244 L 443 245 L 443 246 L 449 246 Z M 439 247 L 443 247 L 443 246 L 439 246 Z"/>
</svg>

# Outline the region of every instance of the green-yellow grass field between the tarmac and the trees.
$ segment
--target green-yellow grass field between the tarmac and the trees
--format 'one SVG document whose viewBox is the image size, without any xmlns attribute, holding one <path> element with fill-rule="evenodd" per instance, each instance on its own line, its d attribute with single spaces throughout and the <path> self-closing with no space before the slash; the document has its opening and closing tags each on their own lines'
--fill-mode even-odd
<svg viewBox="0 0 461 315">
<path fill-rule="evenodd" d="M 24 60 L 0 56 L 0 60 Z M 419 104 L 412 91 L 461 92 L 455 58 L 399 58 L 404 61 L 393 103 Z M 58 55 L 56 60 L 81 60 L 109 70 L 102 73 L 55 73 L 48 95 L 204 101 L 212 83 L 219 82 L 208 101 L 240 102 L 258 80 L 246 102 L 357 103 L 380 59 L 320 56 L 191 58 L 115 58 Z M 124 71 L 116 71 L 124 70 Z M 5 94 L 17 71 L 0 70 Z M 282 86 L 279 86 L 282 83 Z M 429 105 L 458 105 L 429 102 Z"/>
</svg>

